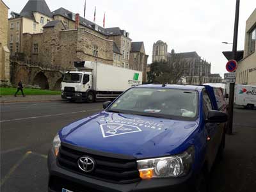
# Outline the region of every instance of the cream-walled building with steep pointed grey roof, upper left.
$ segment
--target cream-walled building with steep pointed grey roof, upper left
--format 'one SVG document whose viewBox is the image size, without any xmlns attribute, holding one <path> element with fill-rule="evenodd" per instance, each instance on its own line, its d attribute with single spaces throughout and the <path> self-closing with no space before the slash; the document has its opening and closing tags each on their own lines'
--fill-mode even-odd
<svg viewBox="0 0 256 192">
<path fill-rule="evenodd" d="M 8 47 L 13 56 L 23 52 L 23 33 L 42 33 L 43 26 L 52 20 L 52 13 L 44 0 L 29 0 L 20 13 L 11 12 L 8 19 Z"/>
</svg>

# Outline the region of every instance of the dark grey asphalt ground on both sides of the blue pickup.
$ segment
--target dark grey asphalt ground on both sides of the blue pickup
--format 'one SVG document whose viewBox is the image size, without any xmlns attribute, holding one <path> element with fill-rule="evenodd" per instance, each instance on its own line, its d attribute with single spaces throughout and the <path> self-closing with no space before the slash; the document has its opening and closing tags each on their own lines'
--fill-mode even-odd
<svg viewBox="0 0 256 192">
<path fill-rule="evenodd" d="M 47 152 L 61 127 L 102 110 L 102 103 L 1 105 L 1 190 L 47 191 Z M 234 135 L 212 170 L 211 191 L 256 188 L 256 110 L 235 109 Z"/>
</svg>

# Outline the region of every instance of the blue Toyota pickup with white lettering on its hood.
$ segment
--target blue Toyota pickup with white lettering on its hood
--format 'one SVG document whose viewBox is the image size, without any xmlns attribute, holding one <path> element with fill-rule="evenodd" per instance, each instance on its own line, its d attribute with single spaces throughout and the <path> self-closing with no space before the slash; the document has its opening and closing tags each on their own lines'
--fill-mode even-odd
<svg viewBox="0 0 256 192">
<path fill-rule="evenodd" d="M 207 191 L 227 121 L 214 88 L 140 85 L 103 107 L 56 134 L 49 191 Z"/>
</svg>

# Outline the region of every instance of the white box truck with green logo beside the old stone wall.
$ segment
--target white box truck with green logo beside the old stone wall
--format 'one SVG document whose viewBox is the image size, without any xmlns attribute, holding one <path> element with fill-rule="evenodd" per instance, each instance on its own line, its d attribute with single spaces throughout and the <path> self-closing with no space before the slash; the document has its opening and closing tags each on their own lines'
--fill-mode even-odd
<svg viewBox="0 0 256 192">
<path fill-rule="evenodd" d="M 78 64 L 77 64 L 78 63 Z M 61 82 L 61 98 L 68 100 L 115 99 L 122 92 L 142 83 L 142 73 L 104 63 L 75 62 Z"/>
</svg>

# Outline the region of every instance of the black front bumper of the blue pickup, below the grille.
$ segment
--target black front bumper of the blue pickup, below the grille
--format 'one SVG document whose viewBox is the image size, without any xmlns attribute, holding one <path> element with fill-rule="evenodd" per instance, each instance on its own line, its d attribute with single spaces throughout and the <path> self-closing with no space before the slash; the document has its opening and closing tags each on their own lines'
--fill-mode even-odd
<svg viewBox="0 0 256 192">
<path fill-rule="evenodd" d="M 54 152 L 50 150 L 48 155 L 49 183 L 48 190 L 61 192 L 62 188 L 74 192 L 129 192 L 129 191 L 189 191 L 191 174 L 186 177 L 140 180 L 131 184 L 115 184 L 103 180 L 84 177 L 70 172 L 58 166 Z"/>
</svg>

